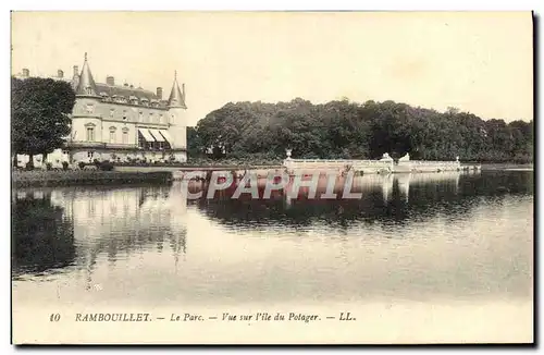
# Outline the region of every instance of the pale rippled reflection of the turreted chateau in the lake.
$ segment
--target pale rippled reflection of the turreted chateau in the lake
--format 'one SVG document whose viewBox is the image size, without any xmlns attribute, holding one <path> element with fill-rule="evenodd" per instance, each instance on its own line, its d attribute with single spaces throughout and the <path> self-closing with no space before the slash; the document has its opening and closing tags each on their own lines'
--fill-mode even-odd
<svg viewBox="0 0 544 355">
<path fill-rule="evenodd" d="M 159 252 L 170 247 L 177 265 L 186 248 L 187 199 L 180 184 L 102 189 L 54 189 L 53 205 L 72 220 L 79 262 L 88 278 L 97 258 L 115 262 L 120 254 Z M 79 264 L 78 262 L 78 264 Z"/>
</svg>

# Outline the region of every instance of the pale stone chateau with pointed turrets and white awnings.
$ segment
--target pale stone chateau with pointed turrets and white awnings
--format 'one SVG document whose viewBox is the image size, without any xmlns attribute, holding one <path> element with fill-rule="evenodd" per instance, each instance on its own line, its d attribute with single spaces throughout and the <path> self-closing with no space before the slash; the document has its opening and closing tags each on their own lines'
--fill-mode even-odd
<svg viewBox="0 0 544 355">
<path fill-rule="evenodd" d="M 28 76 L 28 71 L 23 70 L 20 77 Z M 168 100 L 163 100 L 161 87 L 150 91 L 127 84 L 115 85 L 112 76 L 107 77 L 106 84 L 95 83 L 87 54 L 81 72 L 74 66 L 72 78 L 65 78 L 62 71 L 53 78 L 70 82 L 76 93 L 66 146 L 47 158 L 55 168 L 63 161 L 77 164 L 95 159 L 187 160 L 185 85 L 181 90 L 176 75 Z M 17 160 L 24 166 L 28 157 L 17 156 Z M 42 166 L 41 160 L 35 156 L 37 167 Z"/>
</svg>

